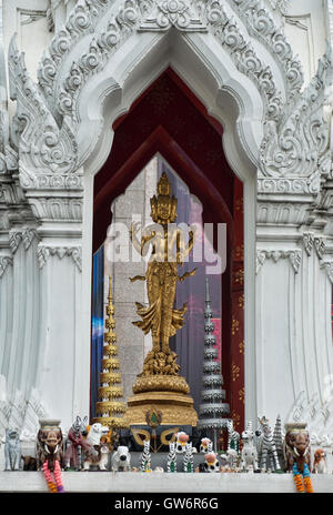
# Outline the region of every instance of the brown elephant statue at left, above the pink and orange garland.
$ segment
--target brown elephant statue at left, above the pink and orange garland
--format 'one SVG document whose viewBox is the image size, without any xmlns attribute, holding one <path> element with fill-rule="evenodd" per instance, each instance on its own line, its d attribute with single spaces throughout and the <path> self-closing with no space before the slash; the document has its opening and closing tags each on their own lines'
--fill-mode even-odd
<svg viewBox="0 0 333 515">
<path fill-rule="evenodd" d="M 42 425 L 37 434 L 37 469 L 48 461 L 50 471 L 53 472 L 54 463 L 58 461 L 62 466 L 62 431 L 58 424 Z"/>
</svg>

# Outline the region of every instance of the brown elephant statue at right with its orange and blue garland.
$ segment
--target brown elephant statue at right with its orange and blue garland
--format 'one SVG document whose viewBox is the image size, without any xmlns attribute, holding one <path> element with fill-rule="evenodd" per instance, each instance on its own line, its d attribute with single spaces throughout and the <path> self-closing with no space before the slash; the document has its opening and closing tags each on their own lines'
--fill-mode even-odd
<svg viewBox="0 0 333 515">
<path fill-rule="evenodd" d="M 294 474 L 295 485 L 299 492 L 312 493 L 310 477 L 311 448 L 306 424 L 286 424 L 284 437 L 285 472 Z M 302 483 L 302 476 L 303 482 Z"/>
</svg>

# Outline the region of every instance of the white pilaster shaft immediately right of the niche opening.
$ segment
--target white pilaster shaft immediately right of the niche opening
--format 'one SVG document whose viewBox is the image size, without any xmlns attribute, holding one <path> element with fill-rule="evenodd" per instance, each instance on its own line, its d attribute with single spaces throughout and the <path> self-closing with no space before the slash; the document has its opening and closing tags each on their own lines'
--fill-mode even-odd
<svg viewBox="0 0 333 515">
<path fill-rule="evenodd" d="M 275 420 L 285 415 L 285 400 L 293 395 L 294 296 L 299 276 L 285 250 L 262 251 L 258 272 L 258 392 L 259 414 Z"/>
</svg>

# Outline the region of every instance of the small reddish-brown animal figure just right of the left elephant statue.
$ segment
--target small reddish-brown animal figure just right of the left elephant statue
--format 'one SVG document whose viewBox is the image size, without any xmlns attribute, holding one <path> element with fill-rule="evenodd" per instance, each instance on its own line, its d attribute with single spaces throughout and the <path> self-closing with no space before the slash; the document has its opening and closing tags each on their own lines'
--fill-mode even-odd
<svg viewBox="0 0 333 515">
<path fill-rule="evenodd" d="M 64 453 L 64 468 L 73 467 L 75 471 L 82 468 L 82 448 L 88 451 L 91 445 L 87 443 L 87 425 L 88 416 L 81 420 L 77 416 L 75 422 L 72 424 L 67 436 L 67 450 Z"/>
</svg>

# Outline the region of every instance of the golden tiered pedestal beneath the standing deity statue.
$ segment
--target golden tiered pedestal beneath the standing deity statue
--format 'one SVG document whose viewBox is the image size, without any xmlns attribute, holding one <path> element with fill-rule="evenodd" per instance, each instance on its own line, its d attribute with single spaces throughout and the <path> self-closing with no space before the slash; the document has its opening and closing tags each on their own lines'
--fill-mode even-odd
<svg viewBox="0 0 333 515">
<path fill-rule="evenodd" d="M 133 385 L 134 395 L 128 400 L 125 417 L 130 426 L 145 425 L 147 414 L 154 407 L 161 412 L 161 425 L 196 426 L 190 387 L 181 376 L 139 376 Z"/>
</svg>

